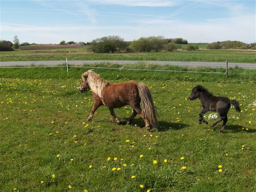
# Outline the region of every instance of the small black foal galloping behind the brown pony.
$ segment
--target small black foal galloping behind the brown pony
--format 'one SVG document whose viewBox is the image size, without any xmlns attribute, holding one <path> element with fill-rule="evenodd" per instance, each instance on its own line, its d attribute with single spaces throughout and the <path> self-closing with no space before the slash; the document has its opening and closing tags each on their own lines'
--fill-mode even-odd
<svg viewBox="0 0 256 192">
<path fill-rule="evenodd" d="M 188 97 L 190 100 L 194 100 L 199 98 L 201 101 L 203 109 L 199 112 L 199 124 L 203 121 L 205 124 L 208 124 L 207 121 L 204 120 L 203 114 L 207 111 L 217 111 L 219 114 L 219 120 L 213 122 L 211 127 L 215 126 L 220 121 L 223 121 L 222 127 L 219 130 L 220 133 L 223 132 L 226 122 L 228 121 L 227 114 L 229 112 L 231 104 L 235 106 L 235 109 L 240 112 L 241 109 L 239 107 L 239 103 L 235 100 L 229 100 L 228 97 L 217 97 L 212 95 L 207 89 L 205 89 L 202 85 L 197 85 L 192 89 L 190 96 Z"/>
</svg>

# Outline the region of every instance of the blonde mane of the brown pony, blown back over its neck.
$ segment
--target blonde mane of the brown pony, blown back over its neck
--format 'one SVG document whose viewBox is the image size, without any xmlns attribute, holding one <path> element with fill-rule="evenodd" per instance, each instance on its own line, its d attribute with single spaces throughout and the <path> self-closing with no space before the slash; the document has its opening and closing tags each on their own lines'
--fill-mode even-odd
<svg viewBox="0 0 256 192">
<path fill-rule="evenodd" d="M 107 81 L 104 81 L 100 75 L 96 74 L 94 71 L 88 70 L 82 74 L 83 81 L 86 81 L 85 77 L 87 76 L 88 85 L 93 92 L 98 96 L 102 97 L 101 91 L 109 84 Z"/>
</svg>

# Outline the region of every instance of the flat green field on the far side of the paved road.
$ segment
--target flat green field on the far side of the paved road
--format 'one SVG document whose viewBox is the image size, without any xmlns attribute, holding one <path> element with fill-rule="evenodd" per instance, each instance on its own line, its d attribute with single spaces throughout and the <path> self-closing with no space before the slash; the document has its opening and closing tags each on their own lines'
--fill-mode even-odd
<svg viewBox="0 0 256 192">
<path fill-rule="evenodd" d="M 256 63 L 255 51 L 241 50 L 197 50 L 150 53 L 91 53 L 88 47 L 17 50 L 1 52 L 1 61 L 36 60 L 159 60 L 159 61 L 198 61 Z"/>
</svg>

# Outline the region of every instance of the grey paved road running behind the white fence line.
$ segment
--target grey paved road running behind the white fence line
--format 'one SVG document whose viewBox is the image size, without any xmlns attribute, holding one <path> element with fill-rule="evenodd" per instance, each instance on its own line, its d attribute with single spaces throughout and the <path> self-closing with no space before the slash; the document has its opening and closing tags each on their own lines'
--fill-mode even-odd
<svg viewBox="0 0 256 192">
<path fill-rule="evenodd" d="M 189 67 L 213 67 L 213 68 L 226 68 L 226 63 L 220 62 L 179 62 L 179 61 L 136 61 L 136 60 L 70 60 L 68 64 L 70 65 L 81 65 L 81 64 L 93 64 L 93 63 L 117 63 L 117 64 L 134 64 L 137 62 L 144 62 L 149 64 L 158 64 L 158 65 L 178 65 L 178 66 L 189 66 Z M 45 66 L 54 66 L 64 64 L 66 61 L 18 61 L 18 62 L 0 62 L 0 66 L 15 66 L 15 65 L 45 65 Z M 228 63 L 229 68 L 239 66 L 245 69 L 256 69 L 255 63 Z"/>
</svg>

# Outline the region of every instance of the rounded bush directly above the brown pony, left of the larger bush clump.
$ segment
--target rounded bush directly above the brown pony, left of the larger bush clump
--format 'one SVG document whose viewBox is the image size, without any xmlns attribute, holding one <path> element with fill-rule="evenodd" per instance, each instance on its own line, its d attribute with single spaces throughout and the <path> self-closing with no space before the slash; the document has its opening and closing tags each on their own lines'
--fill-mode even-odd
<svg viewBox="0 0 256 192">
<path fill-rule="evenodd" d="M 119 36 L 108 36 L 97 38 L 91 41 L 91 50 L 95 53 L 123 52 L 128 46 L 128 42 Z"/>
</svg>

